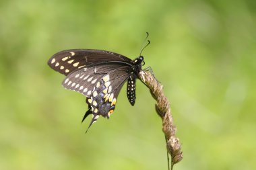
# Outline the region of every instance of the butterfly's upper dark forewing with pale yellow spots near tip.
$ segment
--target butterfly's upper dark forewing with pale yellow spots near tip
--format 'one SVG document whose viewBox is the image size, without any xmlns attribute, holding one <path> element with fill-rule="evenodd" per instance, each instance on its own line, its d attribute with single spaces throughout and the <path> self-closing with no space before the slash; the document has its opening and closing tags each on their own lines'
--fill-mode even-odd
<svg viewBox="0 0 256 170">
<path fill-rule="evenodd" d="M 69 75 L 82 67 L 105 62 L 123 62 L 123 65 L 129 65 L 131 59 L 104 50 L 73 49 L 57 52 L 49 59 L 48 65 L 63 75 Z"/>
</svg>

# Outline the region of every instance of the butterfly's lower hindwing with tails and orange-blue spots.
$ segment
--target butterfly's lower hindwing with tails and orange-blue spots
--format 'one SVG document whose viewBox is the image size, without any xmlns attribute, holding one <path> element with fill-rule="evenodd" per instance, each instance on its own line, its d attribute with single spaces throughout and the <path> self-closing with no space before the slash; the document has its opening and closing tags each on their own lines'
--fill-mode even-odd
<svg viewBox="0 0 256 170">
<path fill-rule="evenodd" d="M 77 91 L 87 97 L 89 110 L 82 121 L 89 114 L 93 114 L 90 126 L 100 115 L 109 118 L 115 110 L 119 91 L 129 78 L 127 69 L 129 66 L 117 64 L 95 65 L 74 71 L 65 78 L 63 86 L 66 89 Z"/>
</svg>

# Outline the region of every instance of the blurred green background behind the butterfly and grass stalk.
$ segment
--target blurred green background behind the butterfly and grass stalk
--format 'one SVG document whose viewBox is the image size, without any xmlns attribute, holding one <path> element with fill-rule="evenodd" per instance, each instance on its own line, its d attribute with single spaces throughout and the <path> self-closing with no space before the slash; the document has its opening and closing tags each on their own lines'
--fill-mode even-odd
<svg viewBox="0 0 256 170">
<path fill-rule="evenodd" d="M 0 169 L 167 169 L 162 121 L 137 81 L 90 128 L 86 97 L 47 60 L 96 48 L 143 51 L 171 101 L 174 169 L 256 169 L 256 1 L 0 1 Z"/>
</svg>

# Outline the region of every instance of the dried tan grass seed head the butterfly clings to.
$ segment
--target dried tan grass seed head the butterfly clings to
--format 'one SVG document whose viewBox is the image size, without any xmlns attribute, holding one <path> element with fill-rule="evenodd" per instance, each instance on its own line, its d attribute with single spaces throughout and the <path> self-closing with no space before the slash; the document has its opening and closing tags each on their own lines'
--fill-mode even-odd
<svg viewBox="0 0 256 170">
<path fill-rule="evenodd" d="M 162 118 L 162 131 L 166 138 L 166 148 L 171 157 L 172 169 L 174 164 L 179 163 L 183 159 L 183 152 L 181 151 L 179 138 L 175 136 L 177 128 L 173 124 L 170 102 L 164 95 L 162 85 L 156 80 L 151 71 L 141 71 L 139 79 L 148 86 L 152 97 L 157 101 L 156 112 Z M 170 168 L 169 163 L 168 168 Z"/>
</svg>

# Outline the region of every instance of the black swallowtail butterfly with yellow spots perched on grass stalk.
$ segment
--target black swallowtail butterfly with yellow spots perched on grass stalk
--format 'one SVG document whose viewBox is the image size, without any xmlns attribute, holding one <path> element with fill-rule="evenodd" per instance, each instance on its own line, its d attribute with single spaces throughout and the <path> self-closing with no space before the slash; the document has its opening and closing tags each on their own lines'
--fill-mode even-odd
<svg viewBox="0 0 256 170">
<path fill-rule="evenodd" d="M 57 52 L 48 61 L 52 69 L 67 76 L 62 83 L 66 89 L 86 95 L 88 111 L 82 122 L 93 114 L 88 129 L 100 115 L 109 118 L 114 112 L 117 96 L 126 81 L 127 97 L 134 105 L 135 81 L 143 64 L 141 54 L 131 60 L 115 52 L 84 49 Z"/>
</svg>

